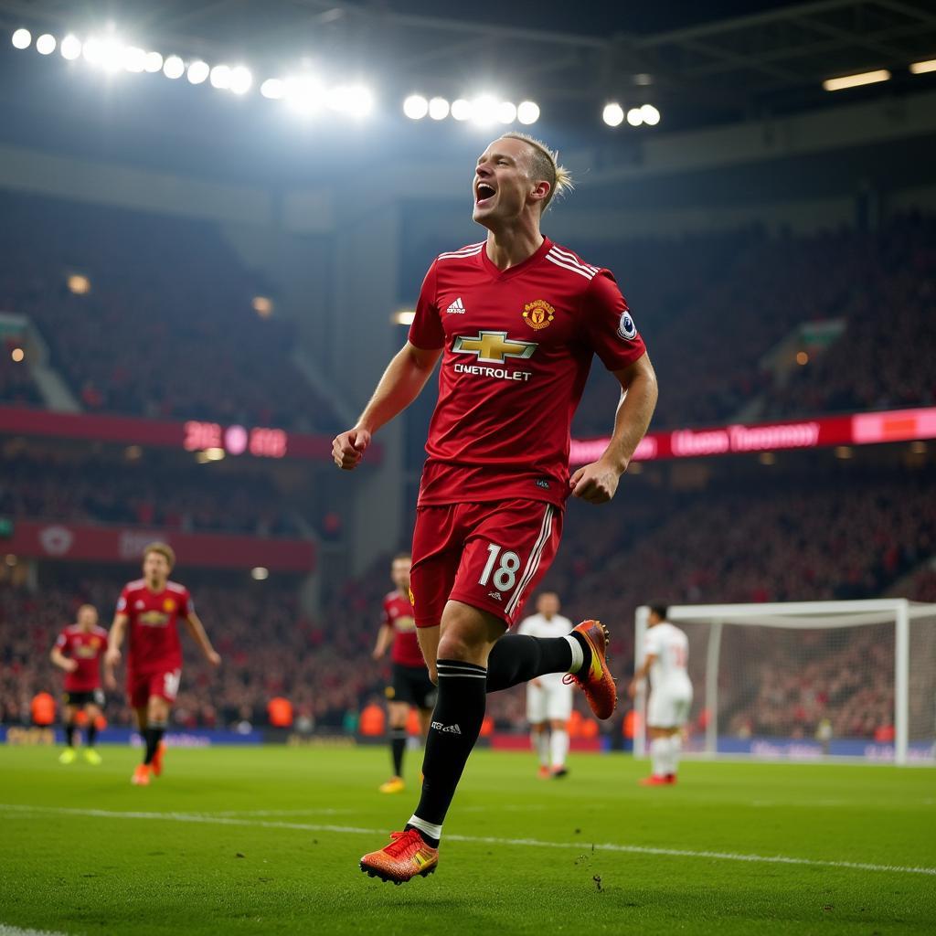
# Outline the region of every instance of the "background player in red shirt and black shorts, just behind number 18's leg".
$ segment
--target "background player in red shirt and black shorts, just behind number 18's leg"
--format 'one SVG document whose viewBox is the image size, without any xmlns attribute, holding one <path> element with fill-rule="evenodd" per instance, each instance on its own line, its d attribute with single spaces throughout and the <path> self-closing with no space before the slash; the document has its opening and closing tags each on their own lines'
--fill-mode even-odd
<svg viewBox="0 0 936 936">
<path fill-rule="evenodd" d="M 381 793 L 401 793 L 404 788 L 403 753 L 406 750 L 406 719 L 410 707 L 419 713 L 419 726 L 425 738 L 435 705 L 435 686 L 419 650 L 413 606 L 409 599 L 411 565 L 408 552 L 393 558 L 390 578 L 396 588 L 384 598 L 383 621 L 377 634 L 377 645 L 373 648 L 373 658 L 379 660 L 392 642 L 393 682 L 387 687 L 387 709 L 393 776 L 386 783 L 381 783 Z"/>
</svg>

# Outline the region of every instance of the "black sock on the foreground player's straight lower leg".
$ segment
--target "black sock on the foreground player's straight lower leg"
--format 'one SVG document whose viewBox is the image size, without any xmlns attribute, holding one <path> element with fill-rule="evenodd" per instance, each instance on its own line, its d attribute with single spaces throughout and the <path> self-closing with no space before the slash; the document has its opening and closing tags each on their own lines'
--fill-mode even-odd
<svg viewBox="0 0 936 936">
<path fill-rule="evenodd" d="M 426 739 L 422 796 L 406 824 L 407 828 L 417 829 L 433 848 L 439 844 L 442 822 L 468 755 L 481 732 L 487 703 L 484 666 L 460 660 L 439 660 L 437 671 L 439 698 Z"/>
</svg>

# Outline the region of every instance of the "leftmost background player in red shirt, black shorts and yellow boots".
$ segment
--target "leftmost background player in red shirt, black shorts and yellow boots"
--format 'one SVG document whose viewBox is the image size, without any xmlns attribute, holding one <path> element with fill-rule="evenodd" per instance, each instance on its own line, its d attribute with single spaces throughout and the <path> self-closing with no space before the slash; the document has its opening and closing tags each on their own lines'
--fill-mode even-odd
<svg viewBox="0 0 936 936">
<path fill-rule="evenodd" d="M 72 764 L 75 753 L 75 719 L 83 710 L 88 720 L 84 759 L 95 767 L 101 755 L 95 751 L 97 719 L 104 708 L 101 689 L 101 657 L 108 647 L 108 632 L 97 626 L 97 608 L 82 605 L 78 620 L 58 636 L 52 647 L 52 663 L 65 670 L 65 742 L 66 749 L 59 756 L 63 764 Z"/>
</svg>

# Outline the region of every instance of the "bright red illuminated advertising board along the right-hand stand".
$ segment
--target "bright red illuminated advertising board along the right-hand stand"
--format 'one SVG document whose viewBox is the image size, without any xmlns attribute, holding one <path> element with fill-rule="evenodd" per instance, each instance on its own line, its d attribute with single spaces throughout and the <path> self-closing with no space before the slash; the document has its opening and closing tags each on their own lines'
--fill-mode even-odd
<svg viewBox="0 0 936 936">
<path fill-rule="evenodd" d="M 691 459 L 744 452 L 775 452 L 783 449 L 824 446 L 866 446 L 881 442 L 910 442 L 936 438 L 936 407 L 854 413 L 849 416 L 786 419 L 706 429 L 649 432 L 637 446 L 635 461 Z M 569 461 L 587 464 L 600 458 L 609 442 L 575 439 Z"/>
</svg>

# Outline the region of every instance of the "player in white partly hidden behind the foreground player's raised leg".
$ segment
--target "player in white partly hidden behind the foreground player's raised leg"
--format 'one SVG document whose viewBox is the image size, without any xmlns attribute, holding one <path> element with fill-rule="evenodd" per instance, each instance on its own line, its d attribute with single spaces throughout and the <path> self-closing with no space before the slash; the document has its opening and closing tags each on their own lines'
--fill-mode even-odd
<svg viewBox="0 0 936 936">
<path fill-rule="evenodd" d="M 561 637 L 573 627 L 559 613 L 559 595 L 543 592 L 536 600 L 536 614 L 520 622 L 518 634 L 532 637 Z M 565 755 L 569 753 L 566 723 L 572 715 L 572 686 L 562 673 L 548 673 L 527 683 L 527 721 L 534 751 L 539 754 L 540 777 L 564 777 Z"/>
</svg>

